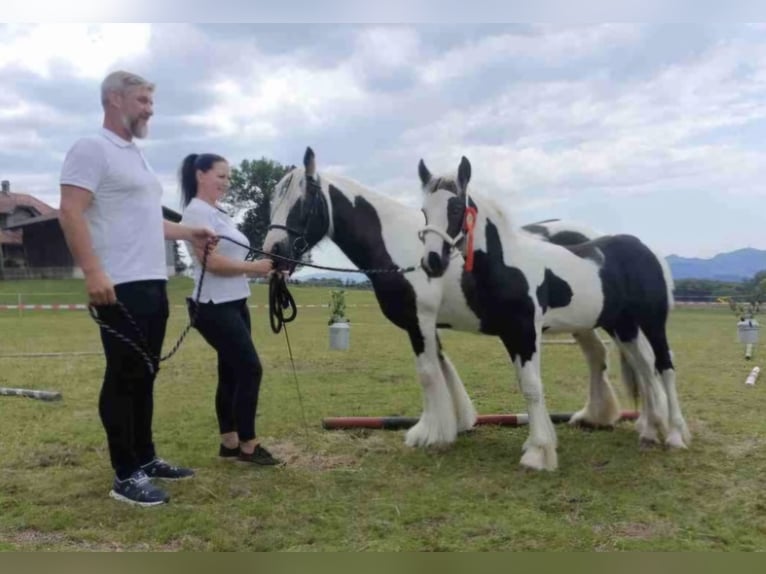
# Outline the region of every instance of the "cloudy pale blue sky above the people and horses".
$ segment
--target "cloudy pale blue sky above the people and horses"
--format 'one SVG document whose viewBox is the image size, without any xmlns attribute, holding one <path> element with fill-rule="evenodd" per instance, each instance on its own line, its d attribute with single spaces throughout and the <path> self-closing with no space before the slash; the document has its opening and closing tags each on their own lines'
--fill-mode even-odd
<svg viewBox="0 0 766 574">
<path fill-rule="evenodd" d="M 185 155 L 266 157 L 419 208 L 418 161 L 525 224 L 568 218 L 665 255 L 766 249 L 763 24 L 6 24 L 0 179 L 58 206 L 115 69 L 156 82 L 139 141 L 178 208 Z M 315 262 L 345 260 L 329 246 Z"/>
</svg>

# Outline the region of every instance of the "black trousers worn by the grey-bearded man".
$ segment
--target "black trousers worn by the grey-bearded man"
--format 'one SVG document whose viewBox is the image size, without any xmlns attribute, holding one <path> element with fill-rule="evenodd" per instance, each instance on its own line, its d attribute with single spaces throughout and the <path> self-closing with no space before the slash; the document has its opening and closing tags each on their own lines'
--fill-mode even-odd
<svg viewBox="0 0 766 574">
<path fill-rule="evenodd" d="M 125 306 L 149 347 L 159 356 L 168 320 L 166 281 L 135 281 L 116 285 L 117 299 Z M 114 305 L 98 308 L 107 325 L 140 341 L 136 328 Z M 106 373 L 98 412 L 106 430 L 109 456 L 117 477 L 125 479 L 155 457 L 152 442 L 154 378 L 144 359 L 114 335 L 101 330 Z"/>
</svg>

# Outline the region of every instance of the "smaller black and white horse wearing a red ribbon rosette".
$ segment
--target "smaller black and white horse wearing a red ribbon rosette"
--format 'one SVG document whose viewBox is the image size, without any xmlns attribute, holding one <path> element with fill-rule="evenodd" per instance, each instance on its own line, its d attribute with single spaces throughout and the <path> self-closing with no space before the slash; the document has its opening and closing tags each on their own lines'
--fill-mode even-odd
<svg viewBox="0 0 766 574">
<path fill-rule="evenodd" d="M 422 160 L 419 175 L 427 221 L 420 233 L 423 268 L 432 278 L 449 277 L 455 250 L 470 268 L 461 277 L 463 305 L 445 304 L 445 297 L 439 320 L 502 340 L 529 411 L 521 463 L 557 466 L 540 373 L 543 331 L 579 337 L 603 328 L 632 367 L 629 377 L 643 399 L 636 425 L 642 443 L 663 435 L 668 446 L 685 448 L 690 435 L 666 336 L 673 282 L 664 259 L 630 235 L 566 247 L 514 228 L 496 203 L 468 193 L 471 166 L 465 157 L 457 177 L 434 177 Z"/>
</svg>

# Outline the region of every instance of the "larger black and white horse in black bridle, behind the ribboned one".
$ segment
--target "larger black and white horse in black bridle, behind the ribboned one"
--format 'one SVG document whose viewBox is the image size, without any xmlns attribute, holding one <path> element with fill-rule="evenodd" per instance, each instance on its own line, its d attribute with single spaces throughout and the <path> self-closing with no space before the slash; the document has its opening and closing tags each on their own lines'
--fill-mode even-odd
<svg viewBox="0 0 766 574">
<path fill-rule="evenodd" d="M 417 244 L 425 221 L 417 211 L 337 175 L 319 175 L 314 153 L 306 150 L 304 167 L 277 183 L 271 225 L 263 249 L 298 258 L 324 237 L 330 238 L 360 270 L 395 270 L 417 264 Z M 537 241 L 582 243 L 596 236 L 587 228 L 561 221 L 529 226 Z M 450 359 L 442 351 L 437 325 L 478 331 L 480 319 L 471 310 L 470 293 L 461 265 L 451 266 L 439 281 L 417 267 L 401 273 L 369 273 L 383 314 L 409 336 L 423 388 L 423 412 L 406 435 L 410 446 L 454 442 L 457 433 L 473 427 L 476 411 Z M 449 321 L 443 320 L 449 318 Z M 589 365 L 586 406 L 573 423 L 611 426 L 620 408 L 607 377 L 607 352 L 593 330 L 575 334 Z M 635 379 L 629 367 L 623 378 Z M 630 386 L 630 385 L 629 385 Z"/>
</svg>

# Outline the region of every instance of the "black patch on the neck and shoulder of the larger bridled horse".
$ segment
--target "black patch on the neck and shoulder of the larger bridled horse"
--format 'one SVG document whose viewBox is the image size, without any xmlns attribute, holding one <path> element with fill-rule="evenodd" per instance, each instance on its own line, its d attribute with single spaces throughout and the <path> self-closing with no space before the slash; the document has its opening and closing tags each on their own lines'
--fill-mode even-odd
<svg viewBox="0 0 766 574">
<path fill-rule="evenodd" d="M 330 185 L 333 212 L 333 240 L 359 269 L 395 269 L 383 242 L 380 217 L 375 207 L 363 197 L 349 198 Z M 368 276 L 386 318 L 407 331 L 416 355 L 425 350 L 423 333 L 417 319 L 415 289 L 401 273 L 377 273 Z"/>
</svg>

